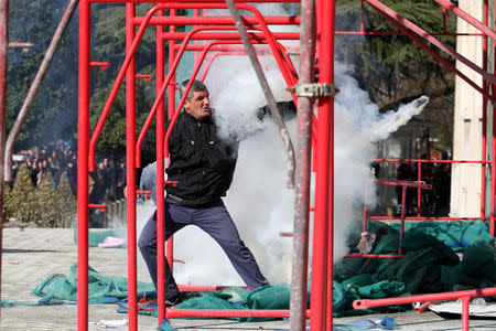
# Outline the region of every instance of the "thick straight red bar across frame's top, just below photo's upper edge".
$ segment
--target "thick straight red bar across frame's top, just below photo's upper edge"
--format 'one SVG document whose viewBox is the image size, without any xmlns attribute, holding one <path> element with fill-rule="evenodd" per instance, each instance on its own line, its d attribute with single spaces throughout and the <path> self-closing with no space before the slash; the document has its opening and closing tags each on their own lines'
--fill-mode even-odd
<svg viewBox="0 0 496 331">
<path fill-rule="evenodd" d="M 263 17 L 268 25 L 292 25 L 300 24 L 300 17 Z M 255 17 L 244 17 L 244 22 L 247 24 L 247 29 L 252 25 L 260 25 L 259 21 Z M 143 18 L 134 18 L 132 23 L 140 25 Z M 150 25 L 234 25 L 231 17 L 160 17 L 152 18 Z"/>
</svg>

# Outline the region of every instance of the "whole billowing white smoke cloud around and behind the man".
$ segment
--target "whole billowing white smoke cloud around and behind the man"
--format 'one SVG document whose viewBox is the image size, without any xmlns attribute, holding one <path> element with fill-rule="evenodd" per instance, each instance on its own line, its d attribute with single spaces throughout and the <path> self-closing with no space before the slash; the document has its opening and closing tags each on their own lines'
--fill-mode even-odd
<svg viewBox="0 0 496 331">
<path fill-rule="evenodd" d="M 259 60 L 276 99 L 290 100 L 276 62 L 270 56 Z M 298 63 L 294 66 L 298 68 Z M 400 108 L 399 115 L 380 115 L 377 105 L 347 74 L 346 65 L 335 64 L 335 77 L 339 88 L 334 115 L 334 260 L 337 260 L 348 250 L 346 238 L 362 218 L 365 189 L 374 179 L 369 163 L 376 158 L 376 151 L 370 142 L 385 139 L 399 125 L 408 122 L 423 109 L 428 98 Z M 267 104 L 258 79 L 247 57 L 219 56 L 211 67 L 206 85 L 220 135 L 235 131 L 246 138 L 240 145 L 226 206 L 263 275 L 272 284 L 289 284 L 292 239 L 279 234 L 293 229 L 294 194 L 285 186 L 287 156 L 278 130 L 271 121 L 260 122 L 255 116 L 257 108 Z M 287 126 L 295 145 L 296 120 Z M 370 186 L 369 205 L 375 204 L 373 192 Z M 138 211 L 139 222 L 145 222 L 151 214 L 140 207 Z M 179 284 L 242 285 L 220 247 L 195 226 L 175 235 L 174 254 L 176 259 L 185 261 L 174 265 Z"/>
</svg>

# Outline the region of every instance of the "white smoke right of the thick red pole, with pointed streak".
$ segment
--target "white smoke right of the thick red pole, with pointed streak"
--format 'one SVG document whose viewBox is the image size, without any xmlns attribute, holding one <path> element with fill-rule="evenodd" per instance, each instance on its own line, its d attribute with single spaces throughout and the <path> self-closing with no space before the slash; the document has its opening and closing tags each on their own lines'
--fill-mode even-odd
<svg viewBox="0 0 496 331">
<path fill-rule="evenodd" d="M 370 160 L 377 158 L 377 151 L 370 142 L 386 139 L 406 125 L 423 110 L 429 98 L 422 96 L 397 111 L 380 114 L 368 94 L 347 74 L 345 64 L 335 62 L 335 77 L 339 88 L 334 109 L 334 259 L 337 260 L 349 249 L 346 241 L 351 232 L 359 228 L 362 205 L 376 204 Z"/>
</svg>

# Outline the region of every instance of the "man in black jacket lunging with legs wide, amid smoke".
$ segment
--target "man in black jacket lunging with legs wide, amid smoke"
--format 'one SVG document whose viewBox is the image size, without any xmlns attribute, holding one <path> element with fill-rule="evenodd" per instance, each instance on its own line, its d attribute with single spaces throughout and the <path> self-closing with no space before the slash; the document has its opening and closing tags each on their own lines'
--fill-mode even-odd
<svg viewBox="0 0 496 331">
<path fill-rule="evenodd" d="M 182 94 L 187 83 L 183 82 Z M 295 113 L 292 102 L 278 103 L 278 107 L 283 114 Z M 262 119 L 266 114 L 267 107 L 260 108 L 257 117 Z M 234 136 L 229 139 L 218 137 L 208 89 L 202 82 L 194 81 L 184 102 L 184 111 L 179 115 L 169 140 L 168 180 L 177 181 L 177 184 L 166 185 L 165 239 L 186 225 L 198 226 L 220 245 L 248 288 L 255 289 L 269 281 L 239 237 L 222 200 L 233 181 L 238 145 Z M 148 151 L 148 154 L 151 153 Z M 147 158 L 145 150 L 142 156 Z M 149 163 L 147 161 L 150 160 L 144 160 L 143 167 Z M 138 246 L 157 288 L 157 211 L 144 225 Z M 182 297 L 168 263 L 165 280 L 166 303 L 177 305 Z"/>
</svg>

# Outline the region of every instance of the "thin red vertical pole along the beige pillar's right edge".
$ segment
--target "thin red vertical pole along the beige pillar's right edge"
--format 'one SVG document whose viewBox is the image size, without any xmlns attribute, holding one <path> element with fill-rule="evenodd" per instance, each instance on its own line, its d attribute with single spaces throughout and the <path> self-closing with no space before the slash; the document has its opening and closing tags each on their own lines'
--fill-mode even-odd
<svg viewBox="0 0 496 331">
<path fill-rule="evenodd" d="M 484 0 L 484 25 L 488 25 L 488 3 Z M 487 35 L 484 35 L 483 43 L 483 70 L 487 71 Z M 483 89 L 488 93 L 489 83 L 483 79 Z M 487 135 L 487 97 L 483 94 L 482 106 L 482 164 L 481 164 L 481 218 L 486 217 L 486 135 Z"/>
</svg>

